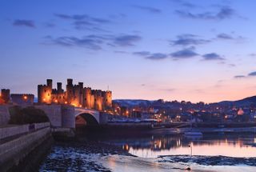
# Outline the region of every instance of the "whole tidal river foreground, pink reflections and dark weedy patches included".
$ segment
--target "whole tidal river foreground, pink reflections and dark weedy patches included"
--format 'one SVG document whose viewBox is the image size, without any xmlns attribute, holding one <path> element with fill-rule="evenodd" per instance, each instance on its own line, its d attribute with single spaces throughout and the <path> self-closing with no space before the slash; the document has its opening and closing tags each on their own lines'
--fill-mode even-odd
<svg viewBox="0 0 256 172">
<path fill-rule="evenodd" d="M 256 171 L 254 134 L 186 138 L 163 132 L 96 140 L 134 156 L 102 145 L 56 144 L 40 171 Z"/>
</svg>

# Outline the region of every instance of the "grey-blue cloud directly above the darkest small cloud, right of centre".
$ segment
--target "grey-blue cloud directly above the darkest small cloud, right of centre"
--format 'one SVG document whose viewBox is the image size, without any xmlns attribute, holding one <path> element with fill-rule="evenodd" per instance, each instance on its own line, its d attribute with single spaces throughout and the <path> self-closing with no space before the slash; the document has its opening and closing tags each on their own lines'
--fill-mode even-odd
<svg viewBox="0 0 256 172">
<path fill-rule="evenodd" d="M 198 36 L 194 34 L 181 34 L 177 36 L 176 40 L 171 41 L 171 44 L 174 46 L 195 46 L 208 42 L 210 42 L 210 40 L 198 38 Z"/>
</svg>

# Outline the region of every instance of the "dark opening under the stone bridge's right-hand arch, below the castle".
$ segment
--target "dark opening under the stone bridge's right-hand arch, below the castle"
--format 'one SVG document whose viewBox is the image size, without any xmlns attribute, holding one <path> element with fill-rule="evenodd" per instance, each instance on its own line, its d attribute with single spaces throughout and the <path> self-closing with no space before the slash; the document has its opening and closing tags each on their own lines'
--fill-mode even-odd
<svg viewBox="0 0 256 172">
<path fill-rule="evenodd" d="M 75 126 L 97 126 L 98 120 L 90 113 L 81 113 L 75 115 Z"/>
</svg>

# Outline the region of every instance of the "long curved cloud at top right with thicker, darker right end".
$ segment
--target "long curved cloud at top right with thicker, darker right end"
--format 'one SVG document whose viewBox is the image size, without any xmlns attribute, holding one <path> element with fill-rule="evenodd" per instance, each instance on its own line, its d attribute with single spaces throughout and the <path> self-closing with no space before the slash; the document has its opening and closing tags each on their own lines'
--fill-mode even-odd
<svg viewBox="0 0 256 172">
<path fill-rule="evenodd" d="M 227 18 L 232 18 L 236 14 L 235 10 L 230 8 L 230 6 L 221 6 L 215 13 L 206 11 L 203 13 L 193 14 L 186 10 L 176 10 L 175 13 L 182 18 L 201 20 L 224 20 Z"/>
</svg>

